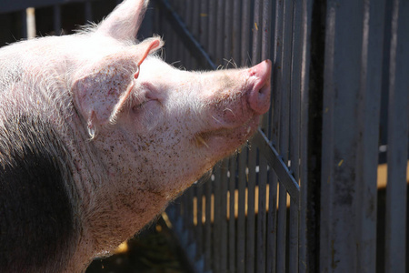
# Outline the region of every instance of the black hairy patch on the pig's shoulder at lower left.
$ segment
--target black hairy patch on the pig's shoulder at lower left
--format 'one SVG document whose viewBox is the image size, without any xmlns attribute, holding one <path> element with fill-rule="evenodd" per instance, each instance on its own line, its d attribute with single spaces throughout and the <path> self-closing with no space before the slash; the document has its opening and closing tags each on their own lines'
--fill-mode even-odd
<svg viewBox="0 0 409 273">
<path fill-rule="evenodd" d="M 39 117 L 13 115 L 0 126 L 0 272 L 65 266 L 78 233 L 67 159 L 61 137 Z"/>
</svg>

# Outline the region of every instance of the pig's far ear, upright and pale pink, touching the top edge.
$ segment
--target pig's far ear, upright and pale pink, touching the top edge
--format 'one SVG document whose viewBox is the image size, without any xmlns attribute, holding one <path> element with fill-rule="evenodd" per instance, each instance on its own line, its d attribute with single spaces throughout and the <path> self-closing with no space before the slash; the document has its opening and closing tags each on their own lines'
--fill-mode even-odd
<svg viewBox="0 0 409 273">
<path fill-rule="evenodd" d="M 135 39 L 149 0 L 125 0 L 96 29 L 118 40 Z"/>
</svg>

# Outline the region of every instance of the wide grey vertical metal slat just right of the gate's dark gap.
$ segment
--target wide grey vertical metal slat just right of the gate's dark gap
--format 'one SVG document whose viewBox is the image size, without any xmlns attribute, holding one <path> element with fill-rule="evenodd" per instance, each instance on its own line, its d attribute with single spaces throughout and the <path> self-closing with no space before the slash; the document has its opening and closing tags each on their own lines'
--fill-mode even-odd
<svg viewBox="0 0 409 273">
<path fill-rule="evenodd" d="M 364 5 L 328 1 L 321 183 L 320 270 L 357 272 L 356 153 Z M 347 231 L 347 232 L 345 232 Z"/>
</svg>

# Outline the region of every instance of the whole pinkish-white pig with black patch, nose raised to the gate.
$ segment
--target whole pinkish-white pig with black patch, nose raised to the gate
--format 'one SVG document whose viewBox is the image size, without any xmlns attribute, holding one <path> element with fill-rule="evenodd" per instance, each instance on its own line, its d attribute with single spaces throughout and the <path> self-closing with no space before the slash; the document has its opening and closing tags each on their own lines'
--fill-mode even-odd
<svg viewBox="0 0 409 273">
<path fill-rule="evenodd" d="M 0 272 L 84 272 L 254 135 L 271 61 L 188 72 L 147 1 L 99 25 L 0 49 Z"/>
</svg>

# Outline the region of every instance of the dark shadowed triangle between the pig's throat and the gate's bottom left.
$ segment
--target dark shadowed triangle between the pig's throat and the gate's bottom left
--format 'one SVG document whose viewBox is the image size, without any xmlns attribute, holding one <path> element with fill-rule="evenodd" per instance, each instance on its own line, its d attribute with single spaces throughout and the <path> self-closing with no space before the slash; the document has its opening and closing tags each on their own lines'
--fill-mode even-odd
<svg viewBox="0 0 409 273">
<path fill-rule="evenodd" d="M 117 249 L 109 258 L 95 259 L 86 273 L 188 273 L 191 272 L 177 240 L 163 220 Z"/>
</svg>

